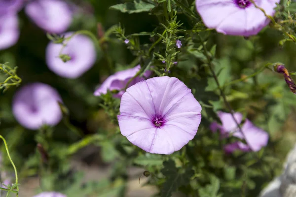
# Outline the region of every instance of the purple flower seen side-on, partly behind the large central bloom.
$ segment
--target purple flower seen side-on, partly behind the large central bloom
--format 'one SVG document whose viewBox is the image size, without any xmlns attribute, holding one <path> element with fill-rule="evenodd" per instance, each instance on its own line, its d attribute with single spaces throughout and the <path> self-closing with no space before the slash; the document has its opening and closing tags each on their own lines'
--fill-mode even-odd
<svg viewBox="0 0 296 197">
<path fill-rule="evenodd" d="M 101 96 L 102 94 L 107 94 L 108 90 L 118 90 L 119 93 L 114 95 L 115 98 L 121 98 L 121 96 L 123 95 L 124 91 L 121 90 L 123 89 L 127 82 L 134 77 L 137 72 L 141 69 L 141 66 L 138 65 L 134 68 L 130 68 L 130 69 L 126 69 L 126 70 L 122 70 L 122 71 L 118 71 L 115 74 L 109 76 L 104 83 L 95 91 L 94 95 L 95 96 Z M 147 70 L 144 73 L 144 76 L 147 78 L 149 75 L 151 74 L 151 72 L 149 70 Z M 144 77 L 136 77 L 135 79 L 133 79 L 128 87 L 131 87 L 132 85 L 145 80 Z M 121 91 L 120 91 L 121 90 Z"/>
</svg>

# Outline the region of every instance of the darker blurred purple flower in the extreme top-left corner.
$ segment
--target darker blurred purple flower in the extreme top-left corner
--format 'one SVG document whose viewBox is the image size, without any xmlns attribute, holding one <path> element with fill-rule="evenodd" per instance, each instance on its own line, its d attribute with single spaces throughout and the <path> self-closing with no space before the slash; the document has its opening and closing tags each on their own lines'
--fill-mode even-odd
<svg viewBox="0 0 296 197">
<path fill-rule="evenodd" d="M 0 15 L 16 14 L 23 3 L 24 0 L 0 0 Z"/>
</svg>

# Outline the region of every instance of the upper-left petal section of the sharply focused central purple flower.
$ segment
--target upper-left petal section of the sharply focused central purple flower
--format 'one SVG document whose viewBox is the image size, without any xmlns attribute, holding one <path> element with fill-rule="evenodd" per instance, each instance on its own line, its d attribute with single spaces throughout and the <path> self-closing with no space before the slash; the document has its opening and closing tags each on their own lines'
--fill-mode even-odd
<svg viewBox="0 0 296 197">
<path fill-rule="evenodd" d="M 121 98 L 120 114 L 151 119 L 155 107 L 146 81 L 141 81 L 126 90 Z"/>
</svg>

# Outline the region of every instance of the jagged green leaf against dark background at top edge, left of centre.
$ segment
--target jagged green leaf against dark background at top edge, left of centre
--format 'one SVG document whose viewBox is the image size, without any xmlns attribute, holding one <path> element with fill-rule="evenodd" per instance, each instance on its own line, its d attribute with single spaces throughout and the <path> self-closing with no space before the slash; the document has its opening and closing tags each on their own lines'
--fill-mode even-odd
<svg viewBox="0 0 296 197">
<path fill-rule="evenodd" d="M 134 2 L 120 3 L 117 5 L 112 5 L 109 9 L 119 10 L 123 13 L 140 13 L 148 12 L 150 9 L 154 8 L 155 5 L 143 2 L 142 0 L 134 0 Z"/>
</svg>

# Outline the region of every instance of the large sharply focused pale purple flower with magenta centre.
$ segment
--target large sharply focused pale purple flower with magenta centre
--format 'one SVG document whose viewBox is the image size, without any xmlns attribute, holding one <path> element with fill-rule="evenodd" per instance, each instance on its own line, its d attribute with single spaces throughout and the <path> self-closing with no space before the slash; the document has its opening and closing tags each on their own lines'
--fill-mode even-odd
<svg viewBox="0 0 296 197">
<path fill-rule="evenodd" d="M 175 77 L 154 77 L 131 86 L 119 110 L 121 134 L 156 154 L 180 150 L 193 139 L 201 121 L 199 102 Z"/>
</svg>

